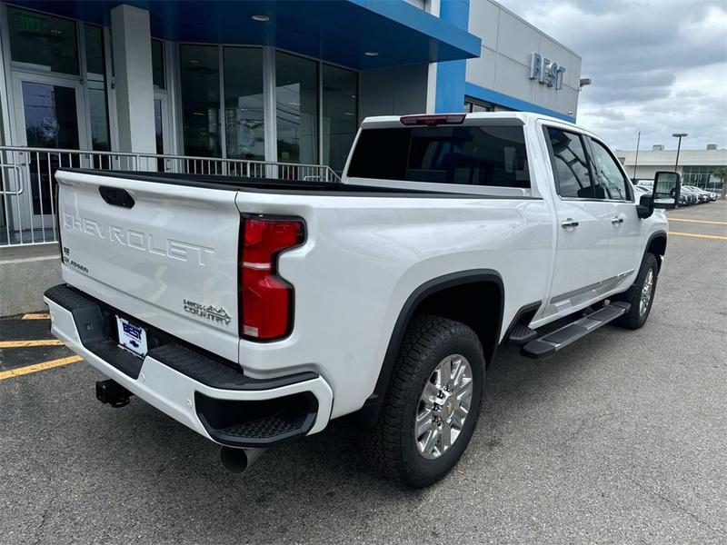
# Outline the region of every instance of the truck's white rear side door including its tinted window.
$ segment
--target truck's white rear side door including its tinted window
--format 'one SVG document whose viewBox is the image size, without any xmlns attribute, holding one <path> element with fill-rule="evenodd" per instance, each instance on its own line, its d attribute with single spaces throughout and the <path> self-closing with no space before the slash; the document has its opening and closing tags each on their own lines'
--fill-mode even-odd
<svg viewBox="0 0 727 545">
<path fill-rule="evenodd" d="M 558 218 L 553 285 L 544 316 L 568 313 L 601 290 L 611 235 L 611 205 L 596 194 L 582 134 L 544 127 Z"/>
</svg>

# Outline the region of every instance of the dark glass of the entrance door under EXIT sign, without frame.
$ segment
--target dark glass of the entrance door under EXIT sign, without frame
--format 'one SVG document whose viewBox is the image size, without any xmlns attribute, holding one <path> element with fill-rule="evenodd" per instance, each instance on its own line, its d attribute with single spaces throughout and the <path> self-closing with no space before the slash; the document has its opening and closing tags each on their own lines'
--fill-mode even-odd
<svg viewBox="0 0 727 545">
<path fill-rule="evenodd" d="M 78 149 L 78 115 L 73 88 L 23 82 L 23 110 L 28 146 Z M 55 170 L 59 166 L 77 165 L 60 164 L 56 154 L 30 154 L 30 159 L 28 172 L 33 213 L 51 213 Z"/>
</svg>

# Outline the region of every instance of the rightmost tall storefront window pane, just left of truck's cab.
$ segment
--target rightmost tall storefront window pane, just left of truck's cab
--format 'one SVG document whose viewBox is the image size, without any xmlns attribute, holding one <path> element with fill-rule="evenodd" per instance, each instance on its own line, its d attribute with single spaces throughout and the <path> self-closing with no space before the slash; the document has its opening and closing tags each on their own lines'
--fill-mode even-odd
<svg viewBox="0 0 727 545">
<path fill-rule="evenodd" d="M 344 170 L 358 128 L 356 94 L 358 74 L 343 68 L 323 66 L 324 164 Z"/>
</svg>

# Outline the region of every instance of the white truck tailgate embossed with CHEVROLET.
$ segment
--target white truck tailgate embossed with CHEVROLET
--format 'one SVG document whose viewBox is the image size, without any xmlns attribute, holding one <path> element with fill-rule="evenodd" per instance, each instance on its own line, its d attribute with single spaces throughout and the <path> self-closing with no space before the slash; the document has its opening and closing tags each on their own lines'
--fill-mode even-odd
<svg viewBox="0 0 727 545">
<path fill-rule="evenodd" d="M 234 190 L 58 171 L 64 279 L 237 361 Z"/>
</svg>

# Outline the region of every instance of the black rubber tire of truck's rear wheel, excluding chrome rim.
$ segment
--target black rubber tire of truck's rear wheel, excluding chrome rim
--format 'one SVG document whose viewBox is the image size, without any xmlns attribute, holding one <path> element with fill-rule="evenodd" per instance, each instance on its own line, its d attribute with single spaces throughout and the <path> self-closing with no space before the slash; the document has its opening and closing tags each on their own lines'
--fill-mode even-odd
<svg viewBox="0 0 727 545">
<path fill-rule="evenodd" d="M 427 459 L 420 452 L 414 433 L 420 398 L 434 370 L 453 354 L 462 355 L 469 363 L 472 400 L 452 446 L 438 458 Z M 366 450 L 374 464 L 389 477 L 413 488 L 423 488 L 442 479 L 472 439 L 482 405 L 484 376 L 483 348 L 472 329 L 438 316 L 415 317 L 397 354 L 381 417 L 365 437 Z"/>
</svg>

